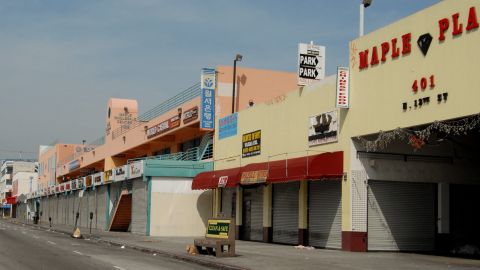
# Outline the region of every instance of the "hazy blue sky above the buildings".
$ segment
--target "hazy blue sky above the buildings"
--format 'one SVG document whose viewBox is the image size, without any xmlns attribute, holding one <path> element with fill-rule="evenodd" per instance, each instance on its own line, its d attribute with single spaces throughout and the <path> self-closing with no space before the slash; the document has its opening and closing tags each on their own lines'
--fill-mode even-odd
<svg viewBox="0 0 480 270">
<path fill-rule="evenodd" d="M 295 72 L 298 43 L 312 40 L 333 74 L 348 64 L 360 2 L 0 0 L 0 149 L 94 140 L 108 98 L 145 112 L 236 53 L 243 66 Z M 437 2 L 373 0 L 365 31 Z M 18 154 L 0 150 L 7 157 Z"/>
</svg>

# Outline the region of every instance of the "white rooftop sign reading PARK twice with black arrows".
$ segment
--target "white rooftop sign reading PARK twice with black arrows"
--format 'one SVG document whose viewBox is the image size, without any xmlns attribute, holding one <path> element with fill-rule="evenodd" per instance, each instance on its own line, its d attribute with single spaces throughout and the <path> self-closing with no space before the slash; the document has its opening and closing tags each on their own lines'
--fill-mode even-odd
<svg viewBox="0 0 480 270">
<path fill-rule="evenodd" d="M 325 78 L 325 47 L 298 44 L 298 85 L 309 85 Z"/>
</svg>

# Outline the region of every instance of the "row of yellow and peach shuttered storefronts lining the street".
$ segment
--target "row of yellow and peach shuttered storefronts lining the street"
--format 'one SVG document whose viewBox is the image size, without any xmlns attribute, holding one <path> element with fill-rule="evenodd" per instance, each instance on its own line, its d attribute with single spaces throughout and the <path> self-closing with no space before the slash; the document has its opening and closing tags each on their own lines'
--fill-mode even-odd
<svg viewBox="0 0 480 270">
<path fill-rule="evenodd" d="M 119 205 L 130 205 L 127 231 L 146 235 L 202 235 L 213 215 L 235 218 L 237 237 L 250 241 L 348 251 L 480 246 L 478 9 L 442 1 L 353 40 L 348 68 L 306 86 L 295 74 L 245 69 L 242 96 L 232 97 L 232 70 L 218 68 L 209 73 L 214 129 L 200 123 L 211 102 L 200 96 L 131 132 L 110 124 L 105 146 L 76 157 L 70 171 L 60 164 L 57 177 L 61 189 L 90 168 L 103 182 L 44 187 L 32 198 L 41 220 L 70 224 L 81 212 L 80 226 L 109 230 Z M 182 122 L 196 106 L 198 119 Z M 196 158 L 185 158 L 192 149 Z M 140 178 L 105 180 L 134 158 L 144 162 Z"/>
</svg>

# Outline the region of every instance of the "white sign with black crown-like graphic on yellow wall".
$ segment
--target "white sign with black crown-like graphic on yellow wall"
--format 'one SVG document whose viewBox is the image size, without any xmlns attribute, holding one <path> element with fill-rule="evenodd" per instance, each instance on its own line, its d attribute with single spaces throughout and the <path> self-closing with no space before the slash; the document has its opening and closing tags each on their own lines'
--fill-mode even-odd
<svg viewBox="0 0 480 270">
<path fill-rule="evenodd" d="M 309 122 L 309 146 L 338 141 L 337 111 L 314 115 L 310 117 Z"/>
</svg>

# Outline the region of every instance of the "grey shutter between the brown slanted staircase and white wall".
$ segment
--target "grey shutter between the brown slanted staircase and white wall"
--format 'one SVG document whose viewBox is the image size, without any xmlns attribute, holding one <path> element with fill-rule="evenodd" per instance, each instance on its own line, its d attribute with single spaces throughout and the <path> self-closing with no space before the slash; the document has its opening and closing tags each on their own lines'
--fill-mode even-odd
<svg viewBox="0 0 480 270">
<path fill-rule="evenodd" d="M 133 180 L 132 192 L 132 232 L 147 232 L 147 184 L 142 178 Z"/>
</svg>

